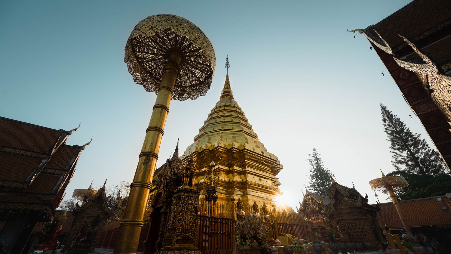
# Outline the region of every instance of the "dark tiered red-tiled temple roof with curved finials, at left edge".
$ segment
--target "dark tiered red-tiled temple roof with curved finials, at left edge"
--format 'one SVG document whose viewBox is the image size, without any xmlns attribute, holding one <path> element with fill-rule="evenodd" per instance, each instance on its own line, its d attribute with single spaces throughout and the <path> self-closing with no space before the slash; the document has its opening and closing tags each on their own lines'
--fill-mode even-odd
<svg viewBox="0 0 451 254">
<path fill-rule="evenodd" d="M 87 145 L 65 144 L 78 127 L 56 130 L 0 117 L 0 208 L 52 217 Z"/>
</svg>

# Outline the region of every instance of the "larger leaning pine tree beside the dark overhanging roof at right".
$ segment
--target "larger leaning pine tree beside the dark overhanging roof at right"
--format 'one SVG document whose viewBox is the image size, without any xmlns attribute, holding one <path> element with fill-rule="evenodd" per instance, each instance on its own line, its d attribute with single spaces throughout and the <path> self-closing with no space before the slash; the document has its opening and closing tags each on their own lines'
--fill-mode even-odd
<svg viewBox="0 0 451 254">
<path fill-rule="evenodd" d="M 382 122 L 385 127 L 393 160 L 397 171 L 418 175 L 437 175 L 445 172 L 445 167 L 428 147 L 426 139 L 413 134 L 404 122 L 381 103 Z"/>
</svg>

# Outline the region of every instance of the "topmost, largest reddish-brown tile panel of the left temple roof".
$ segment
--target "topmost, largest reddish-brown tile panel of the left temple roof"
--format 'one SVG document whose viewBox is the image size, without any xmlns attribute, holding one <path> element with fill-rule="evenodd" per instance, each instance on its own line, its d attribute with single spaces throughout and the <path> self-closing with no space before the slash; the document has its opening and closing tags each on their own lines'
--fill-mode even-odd
<svg viewBox="0 0 451 254">
<path fill-rule="evenodd" d="M 47 153 L 64 133 L 0 117 L 0 146 Z"/>
</svg>

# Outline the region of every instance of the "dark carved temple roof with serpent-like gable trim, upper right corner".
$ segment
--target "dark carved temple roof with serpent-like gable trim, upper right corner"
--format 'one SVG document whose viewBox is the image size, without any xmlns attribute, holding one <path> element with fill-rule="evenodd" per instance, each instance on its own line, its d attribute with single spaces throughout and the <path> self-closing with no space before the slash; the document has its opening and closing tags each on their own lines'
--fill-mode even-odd
<svg viewBox="0 0 451 254">
<path fill-rule="evenodd" d="M 451 9 L 414 0 L 363 33 L 386 66 L 450 170 Z"/>
</svg>

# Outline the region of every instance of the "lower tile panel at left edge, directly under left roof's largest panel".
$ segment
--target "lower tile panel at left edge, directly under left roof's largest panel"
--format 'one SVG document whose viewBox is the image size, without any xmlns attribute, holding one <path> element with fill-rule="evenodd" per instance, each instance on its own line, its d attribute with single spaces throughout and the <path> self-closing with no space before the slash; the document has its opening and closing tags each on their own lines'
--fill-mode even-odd
<svg viewBox="0 0 451 254">
<path fill-rule="evenodd" d="M 41 164 L 42 159 L 0 153 L 0 162 L 0 180 L 23 182 Z"/>
</svg>

